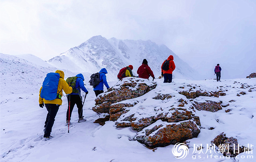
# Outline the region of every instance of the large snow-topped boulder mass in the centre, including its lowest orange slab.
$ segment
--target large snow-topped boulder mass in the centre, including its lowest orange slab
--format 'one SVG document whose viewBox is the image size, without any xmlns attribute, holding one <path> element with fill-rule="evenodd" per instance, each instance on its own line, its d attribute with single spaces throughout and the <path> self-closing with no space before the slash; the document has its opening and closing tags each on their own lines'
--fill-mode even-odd
<svg viewBox="0 0 256 162">
<path fill-rule="evenodd" d="M 135 140 L 150 148 L 197 137 L 201 125 L 199 117 L 192 102 L 178 93 L 177 86 L 159 85 L 146 95 L 126 100 L 138 103 L 125 108 L 127 112 L 117 119 L 116 127 L 132 127 L 139 131 Z"/>
</svg>

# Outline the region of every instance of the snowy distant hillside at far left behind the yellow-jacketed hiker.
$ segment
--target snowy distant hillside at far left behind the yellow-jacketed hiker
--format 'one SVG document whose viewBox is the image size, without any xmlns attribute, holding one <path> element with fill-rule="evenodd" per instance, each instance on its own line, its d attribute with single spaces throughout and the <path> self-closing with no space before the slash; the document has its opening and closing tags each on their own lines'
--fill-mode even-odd
<svg viewBox="0 0 256 162">
<path fill-rule="evenodd" d="M 0 53 L 0 86 L 1 96 L 5 94 L 27 94 L 39 93 L 39 89 L 47 73 L 55 72 L 55 67 L 44 67 L 34 64 L 14 55 Z M 37 58 L 36 56 L 31 56 Z M 39 64 L 43 63 L 38 62 Z M 48 63 L 45 62 L 45 66 Z M 49 65 L 50 66 L 50 65 Z M 76 75 L 68 70 L 64 70 L 65 79 Z M 88 78 L 87 78 L 88 79 Z"/>
</svg>

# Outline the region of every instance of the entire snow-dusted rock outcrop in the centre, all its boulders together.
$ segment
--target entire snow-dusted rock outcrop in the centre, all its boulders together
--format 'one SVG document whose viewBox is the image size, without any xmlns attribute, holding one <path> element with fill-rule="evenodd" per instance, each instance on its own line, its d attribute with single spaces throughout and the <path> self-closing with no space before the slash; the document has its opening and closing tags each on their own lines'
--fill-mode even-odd
<svg viewBox="0 0 256 162">
<path fill-rule="evenodd" d="M 108 113 L 117 128 L 132 127 L 138 131 L 135 140 L 156 148 L 197 137 L 201 123 L 196 109 L 216 112 L 228 106 L 216 89 L 185 83 L 156 86 L 148 79 L 124 78 L 95 99 L 93 110 Z"/>
</svg>

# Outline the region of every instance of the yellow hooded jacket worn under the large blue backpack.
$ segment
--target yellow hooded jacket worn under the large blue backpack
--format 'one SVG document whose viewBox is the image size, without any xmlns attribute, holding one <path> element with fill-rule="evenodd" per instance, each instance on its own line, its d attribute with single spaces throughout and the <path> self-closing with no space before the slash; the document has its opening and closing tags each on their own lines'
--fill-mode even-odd
<svg viewBox="0 0 256 162">
<path fill-rule="evenodd" d="M 58 90 L 57 90 L 58 93 L 60 92 L 59 95 L 63 96 L 62 89 L 66 94 L 72 93 L 72 87 L 69 86 L 69 84 L 64 80 L 64 72 L 61 70 L 56 70 L 55 73 L 59 73 L 59 84 L 58 84 Z M 62 104 L 62 100 L 58 98 L 54 100 L 45 100 L 41 98 L 41 90 L 42 90 L 42 87 L 40 88 L 40 91 L 39 91 L 39 104 L 42 104 L 42 103 L 59 104 L 59 105 Z"/>
</svg>

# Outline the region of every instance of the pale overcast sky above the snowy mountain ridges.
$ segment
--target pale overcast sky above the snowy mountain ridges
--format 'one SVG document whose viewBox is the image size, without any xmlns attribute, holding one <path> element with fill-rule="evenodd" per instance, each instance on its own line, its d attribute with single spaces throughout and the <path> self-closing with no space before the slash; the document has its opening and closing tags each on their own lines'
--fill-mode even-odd
<svg viewBox="0 0 256 162">
<path fill-rule="evenodd" d="M 0 52 L 48 60 L 92 36 L 165 44 L 206 78 L 256 72 L 256 0 L 1 0 Z M 175 60 L 174 60 L 175 61 Z"/>
</svg>

